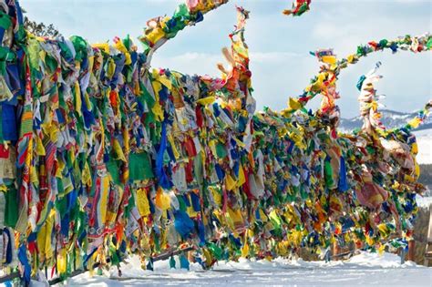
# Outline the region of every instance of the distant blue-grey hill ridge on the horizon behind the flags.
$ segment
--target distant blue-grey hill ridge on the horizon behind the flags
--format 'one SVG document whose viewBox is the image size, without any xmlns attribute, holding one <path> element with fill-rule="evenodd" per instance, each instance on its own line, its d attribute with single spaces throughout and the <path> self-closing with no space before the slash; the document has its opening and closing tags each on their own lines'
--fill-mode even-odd
<svg viewBox="0 0 432 287">
<path fill-rule="evenodd" d="M 389 109 L 382 109 L 380 110 L 380 112 L 383 115 L 381 121 L 383 122 L 386 128 L 403 127 L 404 125 L 406 125 L 406 122 L 409 119 L 414 118 L 417 115 L 417 112 L 404 113 L 404 112 L 398 112 Z M 352 131 L 355 128 L 362 128 L 362 126 L 363 126 L 363 119 L 360 116 L 357 116 L 355 118 L 341 118 L 341 123 L 339 128 L 345 132 L 348 132 L 348 131 Z M 428 129 L 428 128 L 432 128 L 431 117 L 427 118 L 426 123 L 424 123 L 419 128 L 417 128 L 417 130 Z"/>
</svg>

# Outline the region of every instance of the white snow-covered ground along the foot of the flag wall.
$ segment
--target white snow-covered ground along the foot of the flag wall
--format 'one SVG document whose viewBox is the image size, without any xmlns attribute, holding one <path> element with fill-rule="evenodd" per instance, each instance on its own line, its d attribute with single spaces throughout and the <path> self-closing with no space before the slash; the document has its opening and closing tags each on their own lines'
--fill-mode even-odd
<svg viewBox="0 0 432 287">
<path fill-rule="evenodd" d="M 154 272 L 143 271 L 139 266 L 139 259 L 132 257 L 129 264 L 122 264 L 121 279 L 112 269 L 104 276 L 77 276 L 67 286 L 432 286 L 431 268 L 410 261 L 400 264 L 400 258 L 391 253 L 379 256 L 362 252 L 348 261 L 329 263 L 281 258 L 219 262 L 211 271 L 202 271 L 196 263 L 190 264 L 190 272 L 173 270 L 168 261 L 155 262 Z"/>
</svg>

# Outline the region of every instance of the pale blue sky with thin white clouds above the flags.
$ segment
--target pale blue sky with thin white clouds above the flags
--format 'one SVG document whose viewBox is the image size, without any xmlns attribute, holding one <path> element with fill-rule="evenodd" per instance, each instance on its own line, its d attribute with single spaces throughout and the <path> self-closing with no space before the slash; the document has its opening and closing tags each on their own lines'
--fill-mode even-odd
<svg viewBox="0 0 432 287">
<path fill-rule="evenodd" d="M 90 43 L 112 42 L 115 36 L 142 34 L 147 20 L 172 15 L 180 0 L 21 0 L 26 15 L 37 22 L 54 24 L 63 36 L 79 35 Z M 286 108 L 289 97 L 319 71 L 309 51 L 334 48 L 337 56 L 355 53 L 356 46 L 371 40 L 432 32 L 432 0 L 313 0 L 311 11 L 301 17 L 282 15 L 291 0 L 231 0 L 205 15 L 197 26 L 187 27 L 159 48 L 152 67 L 168 67 L 187 74 L 220 76 L 224 63 L 221 48 L 230 46 L 228 35 L 236 22 L 235 5 L 251 11 L 246 26 L 250 49 L 253 97 L 259 109 Z M 359 77 L 382 62 L 376 85 L 386 95 L 386 108 L 415 111 L 432 99 L 432 53 L 378 52 L 346 68 L 339 77 L 343 118 L 359 114 Z M 319 99 L 308 108 L 316 108 Z"/>
</svg>

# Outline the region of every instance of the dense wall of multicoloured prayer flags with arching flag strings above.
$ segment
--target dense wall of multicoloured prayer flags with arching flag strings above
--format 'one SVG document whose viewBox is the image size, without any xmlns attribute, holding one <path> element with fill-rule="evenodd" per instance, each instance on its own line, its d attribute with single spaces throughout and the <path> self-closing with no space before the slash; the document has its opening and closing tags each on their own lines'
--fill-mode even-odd
<svg viewBox="0 0 432 287">
<path fill-rule="evenodd" d="M 335 83 L 362 56 L 427 52 L 432 37 L 370 42 L 342 60 L 316 51 L 323 67 L 303 95 L 281 112 L 257 112 L 244 38 L 250 14 L 241 7 L 220 78 L 150 67 L 159 46 L 227 2 L 188 0 L 171 17 L 151 19 L 139 37 L 143 52 L 129 36 L 112 46 L 33 36 L 18 1 L 1 5 L 5 270 L 19 267 L 26 283 L 44 268 L 66 279 L 77 266 L 119 266 L 131 253 L 152 269 L 152 256 L 185 246 L 210 268 L 299 248 L 320 252 L 334 241 L 380 247 L 412 236 L 424 187 L 410 130 L 432 104 L 387 130 L 373 70 L 357 85 L 365 126 L 343 134 Z M 296 1 L 292 14 L 309 5 Z M 317 95 L 321 108 L 304 108 Z M 181 255 L 180 267 L 188 266 Z"/>
</svg>

